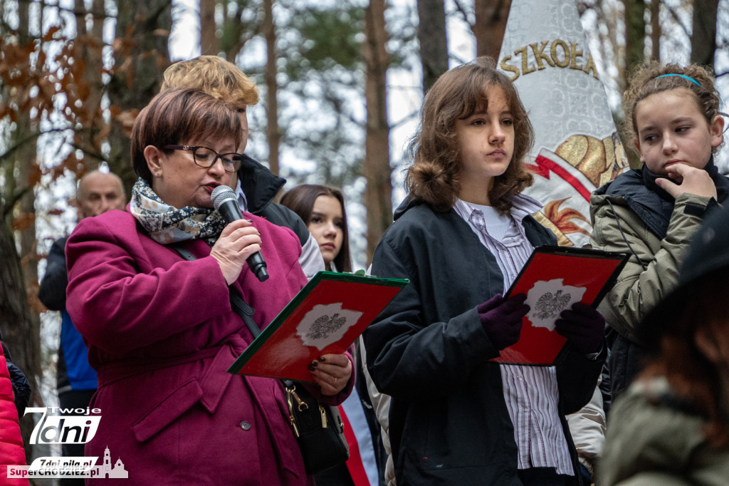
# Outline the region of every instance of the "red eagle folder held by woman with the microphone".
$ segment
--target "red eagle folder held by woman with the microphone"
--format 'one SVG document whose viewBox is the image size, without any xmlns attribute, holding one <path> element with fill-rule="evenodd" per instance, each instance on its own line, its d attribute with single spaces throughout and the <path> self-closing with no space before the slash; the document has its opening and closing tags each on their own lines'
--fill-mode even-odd
<svg viewBox="0 0 729 486">
<path fill-rule="evenodd" d="M 406 279 L 319 271 L 228 372 L 311 382 L 308 363 L 346 351 L 407 284 Z"/>
</svg>

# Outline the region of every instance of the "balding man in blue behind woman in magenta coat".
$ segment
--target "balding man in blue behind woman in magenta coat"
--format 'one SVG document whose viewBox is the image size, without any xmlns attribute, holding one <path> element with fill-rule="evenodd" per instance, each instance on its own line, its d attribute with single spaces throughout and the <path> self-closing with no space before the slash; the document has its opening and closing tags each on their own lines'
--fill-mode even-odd
<svg viewBox="0 0 729 486">
<path fill-rule="evenodd" d="M 76 207 L 79 220 L 112 209 L 124 210 L 126 198 L 122 180 L 116 174 L 91 171 L 79 181 Z M 88 351 L 81 334 L 66 312 L 66 239 L 56 240 L 48 253 L 47 266 L 38 296 L 50 310 L 61 311 L 61 345 L 58 347 L 58 401 L 62 409 L 85 409 L 96 391 L 96 371 L 88 363 Z M 72 414 L 72 413 L 71 413 Z M 83 456 L 84 444 L 63 444 L 63 456 Z M 61 485 L 83 485 L 83 478 L 61 479 Z"/>
</svg>

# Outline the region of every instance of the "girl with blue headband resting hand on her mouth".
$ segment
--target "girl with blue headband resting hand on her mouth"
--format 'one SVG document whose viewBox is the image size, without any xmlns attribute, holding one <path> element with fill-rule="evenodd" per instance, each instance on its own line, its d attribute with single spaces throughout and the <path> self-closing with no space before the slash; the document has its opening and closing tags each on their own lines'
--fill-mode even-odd
<svg viewBox="0 0 729 486">
<path fill-rule="evenodd" d="M 641 366 L 641 320 L 676 288 L 704 214 L 729 194 L 729 181 L 714 166 L 724 119 L 709 71 L 693 64 L 639 67 L 623 107 L 625 139 L 633 140 L 643 166 L 620 174 L 590 200 L 593 247 L 631 255 L 599 308 L 616 331 L 609 358 L 613 399 Z"/>
</svg>

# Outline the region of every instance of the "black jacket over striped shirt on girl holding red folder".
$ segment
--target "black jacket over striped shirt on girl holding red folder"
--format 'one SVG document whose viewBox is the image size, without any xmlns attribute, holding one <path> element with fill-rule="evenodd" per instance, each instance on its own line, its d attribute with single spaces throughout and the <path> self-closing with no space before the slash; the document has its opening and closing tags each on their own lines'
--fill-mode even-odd
<svg viewBox="0 0 729 486">
<path fill-rule="evenodd" d="M 533 217 L 523 226 L 535 247 L 555 244 Z M 436 213 L 406 199 L 372 274 L 410 279 L 364 332 L 373 381 L 392 397 L 397 485 L 521 485 L 501 372 L 489 361 L 499 352 L 476 309 L 504 288 L 494 255 L 453 209 Z M 604 354 L 566 353 L 557 366 L 561 414 L 588 403 Z M 564 417 L 563 428 L 575 463 Z"/>
</svg>

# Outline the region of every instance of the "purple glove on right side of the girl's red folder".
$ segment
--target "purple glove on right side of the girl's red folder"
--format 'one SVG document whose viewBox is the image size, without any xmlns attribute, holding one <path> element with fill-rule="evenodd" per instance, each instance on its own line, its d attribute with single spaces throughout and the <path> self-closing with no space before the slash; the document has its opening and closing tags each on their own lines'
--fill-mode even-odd
<svg viewBox="0 0 729 486">
<path fill-rule="evenodd" d="M 605 317 L 596 309 L 575 302 L 572 309 L 562 311 L 554 324 L 557 332 L 572 341 L 575 349 L 583 355 L 600 350 L 605 336 Z"/>
</svg>

